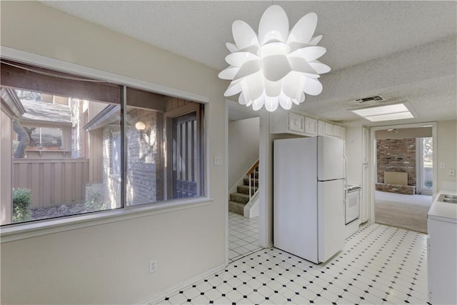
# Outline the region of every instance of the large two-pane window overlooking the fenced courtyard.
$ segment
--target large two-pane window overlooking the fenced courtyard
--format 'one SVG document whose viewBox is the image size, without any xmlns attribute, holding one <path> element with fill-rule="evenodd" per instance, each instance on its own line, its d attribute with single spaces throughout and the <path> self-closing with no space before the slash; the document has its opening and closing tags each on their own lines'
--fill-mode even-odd
<svg viewBox="0 0 457 305">
<path fill-rule="evenodd" d="M 204 195 L 203 105 L 11 61 L 1 69 L 11 131 L 1 225 Z"/>
</svg>

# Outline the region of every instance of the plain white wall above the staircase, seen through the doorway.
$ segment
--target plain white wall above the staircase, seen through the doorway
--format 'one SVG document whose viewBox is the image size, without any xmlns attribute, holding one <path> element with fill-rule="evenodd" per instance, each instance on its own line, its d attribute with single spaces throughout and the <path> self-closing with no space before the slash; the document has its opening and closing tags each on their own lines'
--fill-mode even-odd
<svg viewBox="0 0 457 305">
<path fill-rule="evenodd" d="M 259 121 L 229 121 L 229 189 L 258 160 Z"/>
</svg>

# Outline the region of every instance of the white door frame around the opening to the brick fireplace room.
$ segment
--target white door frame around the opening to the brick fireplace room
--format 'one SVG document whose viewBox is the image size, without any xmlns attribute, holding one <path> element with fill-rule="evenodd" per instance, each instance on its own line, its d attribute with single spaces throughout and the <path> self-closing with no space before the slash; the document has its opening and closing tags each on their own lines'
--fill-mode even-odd
<svg viewBox="0 0 457 305">
<path fill-rule="evenodd" d="M 374 224 L 376 221 L 375 213 L 374 213 L 374 204 L 375 204 L 375 191 L 376 191 L 376 177 L 378 175 L 377 169 L 377 158 L 376 158 L 376 131 L 378 130 L 385 130 L 385 129 L 403 129 L 403 128 L 415 128 L 415 127 L 425 127 L 431 126 L 432 130 L 432 138 L 433 138 L 433 198 L 436 196 L 438 189 L 436 188 L 438 184 L 438 173 L 436 171 L 436 165 L 438 162 L 437 159 L 437 139 L 436 135 L 438 133 L 438 122 L 436 121 L 428 121 L 422 123 L 411 123 L 411 124 L 396 124 L 396 125 L 384 125 L 384 126 L 372 126 L 370 127 L 370 171 L 371 171 L 371 179 L 370 179 L 370 204 L 369 204 L 369 211 L 370 216 L 368 218 L 368 222 L 370 224 Z"/>
</svg>

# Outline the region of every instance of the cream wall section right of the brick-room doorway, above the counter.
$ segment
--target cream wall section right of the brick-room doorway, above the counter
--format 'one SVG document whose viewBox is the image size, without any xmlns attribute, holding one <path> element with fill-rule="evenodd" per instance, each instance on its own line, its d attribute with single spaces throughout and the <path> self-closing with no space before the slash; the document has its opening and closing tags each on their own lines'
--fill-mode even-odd
<svg viewBox="0 0 457 305">
<path fill-rule="evenodd" d="M 437 159 L 434 167 L 438 171 L 438 189 L 457 191 L 456 176 L 449 176 L 449 169 L 457 170 L 457 121 L 438 121 Z M 444 162 L 446 168 L 441 169 L 439 164 Z"/>
</svg>

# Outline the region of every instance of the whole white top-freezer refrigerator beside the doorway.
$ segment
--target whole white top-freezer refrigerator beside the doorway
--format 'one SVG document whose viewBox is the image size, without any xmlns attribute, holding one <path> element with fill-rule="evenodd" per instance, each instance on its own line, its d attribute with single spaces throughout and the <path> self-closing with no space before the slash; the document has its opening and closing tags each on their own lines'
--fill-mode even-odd
<svg viewBox="0 0 457 305">
<path fill-rule="evenodd" d="M 345 164 L 341 139 L 273 143 L 273 244 L 319 264 L 344 246 Z"/>
</svg>

